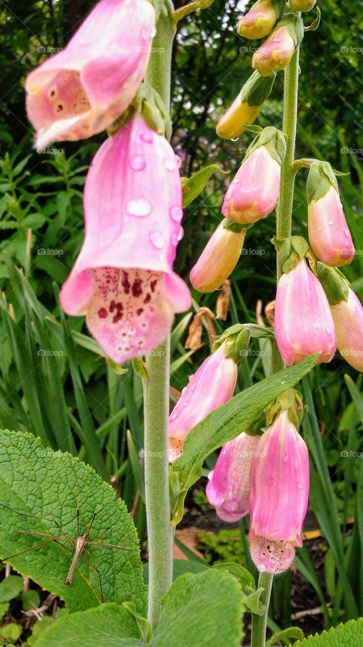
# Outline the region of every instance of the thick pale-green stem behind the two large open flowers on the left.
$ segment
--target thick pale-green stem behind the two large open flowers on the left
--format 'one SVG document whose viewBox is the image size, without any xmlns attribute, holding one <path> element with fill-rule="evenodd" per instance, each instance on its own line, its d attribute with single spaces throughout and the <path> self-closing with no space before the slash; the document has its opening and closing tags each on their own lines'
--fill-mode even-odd
<svg viewBox="0 0 363 647">
<path fill-rule="evenodd" d="M 169 110 L 171 52 L 175 25 L 172 3 L 161 14 L 152 41 L 145 81 L 160 94 Z M 145 503 L 149 545 L 148 619 L 152 628 L 160 616 L 160 600 L 172 584 L 172 547 L 174 533 L 170 523 L 169 501 L 169 381 L 170 339 L 147 356 L 147 377 L 143 378 Z"/>
</svg>

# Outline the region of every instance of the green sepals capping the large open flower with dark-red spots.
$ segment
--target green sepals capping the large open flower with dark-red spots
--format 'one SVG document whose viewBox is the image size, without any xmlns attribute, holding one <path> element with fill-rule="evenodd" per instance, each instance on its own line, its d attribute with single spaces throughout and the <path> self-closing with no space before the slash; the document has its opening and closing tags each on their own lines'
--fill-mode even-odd
<svg viewBox="0 0 363 647">
<path fill-rule="evenodd" d="M 114 135 L 123 128 L 134 113 L 140 113 L 150 128 L 170 140 L 172 131 L 170 116 L 160 94 L 147 83 L 141 83 L 129 107 L 107 129 L 109 135 Z"/>
</svg>

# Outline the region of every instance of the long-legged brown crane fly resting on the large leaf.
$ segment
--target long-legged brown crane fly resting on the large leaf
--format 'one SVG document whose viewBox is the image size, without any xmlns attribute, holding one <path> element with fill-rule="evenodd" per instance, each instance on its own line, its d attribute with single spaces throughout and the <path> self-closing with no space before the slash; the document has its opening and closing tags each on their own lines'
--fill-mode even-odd
<svg viewBox="0 0 363 647">
<path fill-rule="evenodd" d="M 10 506 L 5 505 L 4 503 L 0 503 L 0 505 L 2 507 L 7 508 L 8 510 L 12 510 L 12 512 L 16 512 L 17 514 L 20 514 L 21 516 L 26 516 L 26 517 L 30 517 L 30 518 L 33 518 L 33 519 L 38 519 L 40 521 L 50 521 L 50 523 L 55 523 L 56 526 L 57 526 L 57 529 L 61 533 L 60 535 L 55 535 L 55 534 L 50 534 L 48 532 L 14 530 L 13 532 L 15 534 L 32 535 L 32 536 L 35 536 L 35 537 L 47 537 L 47 540 L 45 540 L 45 542 L 38 543 L 36 546 L 26 548 L 25 551 L 19 551 L 19 553 L 15 553 L 15 554 L 12 554 L 12 555 L 10 555 L 8 557 L 5 557 L 5 558 L 3 558 L 2 561 L 6 562 L 8 560 L 11 560 L 14 557 L 17 557 L 17 556 L 22 555 L 24 553 L 28 553 L 30 551 L 33 551 L 33 550 L 37 549 L 37 548 L 41 548 L 41 547 L 47 545 L 48 543 L 55 542 L 55 543 L 57 543 L 57 545 L 59 545 L 62 548 L 66 549 L 69 553 L 72 553 L 72 555 L 73 555 L 72 563 L 70 564 L 68 574 L 67 574 L 67 578 L 65 580 L 65 584 L 67 584 L 67 586 L 70 586 L 70 584 L 72 584 L 73 575 L 74 575 L 74 569 L 76 568 L 76 565 L 77 565 L 77 562 L 78 562 L 79 558 L 81 558 L 82 560 L 87 562 L 87 564 L 90 565 L 90 567 L 92 567 L 92 569 L 94 569 L 94 571 L 98 574 L 99 588 L 101 590 L 101 599 L 102 599 L 102 602 L 103 602 L 101 573 L 99 572 L 98 568 L 96 568 L 96 566 L 94 564 L 92 564 L 92 562 L 90 562 L 90 560 L 88 560 L 88 558 L 83 554 L 83 551 L 85 551 L 85 549 L 87 550 L 89 546 L 98 546 L 98 547 L 112 548 L 112 549 L 115 548 L 115 549 L 119 549 L 121 551 L 131 551 L 132 552 L 133 549 L 129 548 L 127 546 L 119 546 L 119 545 L 114 544 L 114 543 L 99 542 L 99 540 L 102 538 L 102 536 L 108 531 L 114 531 L 114 532 L 117 532 L 121 536 L 126 536 L 123 532 L 119 532 L 116 528 L 114 528 L 112 526 L 108 526 L 94 540 L 90 541 L 90 539 L 89 539 L 90 532 L 92 530 L 94 520 L 96 519 L 96 515 L 99 512 L 101 512 L 101 510 L 104 510 L 107 507 L 107 505 L 109 505 L 110 503 L 114 503 L 115 501 L 117 501 L 117 498 L 112 500 L 112 501 L 109 501 L 108 503 L 103 505 L 101 508 L 96 510 L 96 512 L 94 512 L 94 514 L 92 516 L 92 519 L 90 520 L 90 524 L 88 526 L 88 529 L 85 532 L 83 532 L 83 534 L 80 534 L 80 532 L 79 532 L 79 492 L 78 492 L 77 537 L 76 538 L 68 537 L 67 534 L 63 531 L 63 529 L 61 528 L 61 526 L 59 525 L 59 523 L 55 519 L 50 519 L 50 518 L 47 518 L 47 517 L 37 516 L 36 514 L 27 514 L 26 512 L 19 512 L 18 510 L 15 510 L 14 508 L 10 508 Z M 134 542 L 134 540 L 130 539 L 129 537 L 128 537 L 128 539 L 129 539 L 130 542 L 135 543 L 136 545 L 138 545 L 138 542 Z"/>
</svg>

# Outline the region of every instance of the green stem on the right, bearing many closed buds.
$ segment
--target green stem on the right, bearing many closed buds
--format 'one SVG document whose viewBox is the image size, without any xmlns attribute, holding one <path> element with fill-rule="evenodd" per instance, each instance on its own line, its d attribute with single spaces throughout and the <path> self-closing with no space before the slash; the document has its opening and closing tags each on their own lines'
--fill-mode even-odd
<svg viewBox="0 0 363 647">
<path fill-rule="evenodd" d="M 293 167 L 295 158 L 296 121 L 298 104 L 298 55 L 297 47 L 289 65 L 285 68 L 284 78 L 284 120 L 282 131 L 287 138 L 286 157 L 281 167 L 280 192 L 276 208 L 276 237 L 286 238 L 291 236 L 291 218 L 293 214 L 293 197 L 296 170 Z M 277 254 L 277 280 L 282 274 L 282 262 Z M 284 367 L 282 357 L 278 352 L 276 343 L 273 346 L 272 372 L 276 373 Z M 267 615 L 273 575 L 260 573 L 258 586 L 264 588 L 260 600 L 265 605 L 264 615 L 252 615 L 251 647 L 264 647 L 266 641 Z"/>
</svg>

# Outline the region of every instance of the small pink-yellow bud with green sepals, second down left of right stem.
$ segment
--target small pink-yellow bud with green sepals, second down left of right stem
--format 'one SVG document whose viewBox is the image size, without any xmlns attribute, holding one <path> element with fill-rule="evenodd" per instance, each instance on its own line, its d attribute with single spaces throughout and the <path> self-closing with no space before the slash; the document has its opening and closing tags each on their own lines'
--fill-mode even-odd
<svg viewBox="0 0 363 647">
<path fill-rule="evenodd" d="M 296 44 L 300 43 L 304 34 L 304 25 L 300 16 L 287 14 L 261 47 L 254 52 L 252 67 L 261 76 L 269 76 L 272 72 L 284 69 L 291 61 Z"/>
</svg>

